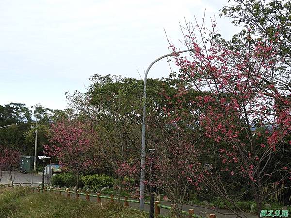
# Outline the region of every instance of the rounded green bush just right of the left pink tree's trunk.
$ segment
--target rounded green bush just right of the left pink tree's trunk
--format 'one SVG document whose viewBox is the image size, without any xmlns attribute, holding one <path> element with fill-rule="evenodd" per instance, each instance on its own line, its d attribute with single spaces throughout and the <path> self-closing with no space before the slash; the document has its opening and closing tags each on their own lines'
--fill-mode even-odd
<svg viewBox="0 0 291 218">
<path fill-rule="evenodd" d="M 98 189 L 102 189 L 103 187 L 113 185 L 113 178 L 105 174 L 82 176 L 81 181 L 84 183 L 85 187 L 92 189 L 94 192 L 96 192 Z"/>
</svg>

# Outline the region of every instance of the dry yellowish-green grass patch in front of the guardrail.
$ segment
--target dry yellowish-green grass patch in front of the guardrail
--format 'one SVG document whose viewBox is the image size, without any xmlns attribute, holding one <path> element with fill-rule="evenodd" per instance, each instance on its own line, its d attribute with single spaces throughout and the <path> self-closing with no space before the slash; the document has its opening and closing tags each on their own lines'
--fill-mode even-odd
<svg viewBox="0 0 291 218">
<path fill-rule="evenodd" d="M 115 202 L 103 203 L 67 199 L 50 193 L 32 193 L 29 188 L 0 190 L 1 218 L 146 218 L 138 210 Z"/>
</svg>

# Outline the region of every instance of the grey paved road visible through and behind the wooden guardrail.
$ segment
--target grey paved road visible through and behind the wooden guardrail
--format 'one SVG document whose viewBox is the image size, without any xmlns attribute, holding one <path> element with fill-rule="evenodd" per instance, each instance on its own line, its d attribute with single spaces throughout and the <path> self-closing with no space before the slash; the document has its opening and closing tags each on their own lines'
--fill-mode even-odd
<svg viewBox="0 0 291 218">
<path fill-rule="evenodd" d="M 65 196 L 65 193 L 62 193 L 62 195 Z M 70 194 L 71 198 L 75 198 L 74 194 Z M 86 196 L 80 195 L 80 198 L 85 200 Z M 136 199 L 135 199 L 136 200 Z M 91 202 L 97 202 L 97 198 L 90 196 Z M 107 199 L 101 199 L 101 202 L 108 201 Z M 162 205 L 171 206 L 171 202 L 161 202 Z M 133 203 L 129 202 L 129 207 L 139 209 L 139 203 Z M 229 210 L 223 210 L 223 209 L 216 209 L 216 211 L 210 209 L 210 208 L 201 208 L 199 206 L 189 206 L 189 205 L 183 205 L 183 210 L 188 211 L 189 209 L 194 209 L 194 213 L 203 217 L 207 217 L 207 214 L 216 214 L 216 218 L 236 218 L 236 215 L 225 215 L 232 213 Z M 145 211 L 149 211 L 149 205 L 145 204 Z M 160 210 L 161 214 L 164 216 L 167 216 L 170 214 L 170 211 L 167 209 L 161 208 Z M 219 213 L 220 212 L 220 213 Z M 257 215 L 245 213 L 247 218 L 258 218 Z"/>
</svg>

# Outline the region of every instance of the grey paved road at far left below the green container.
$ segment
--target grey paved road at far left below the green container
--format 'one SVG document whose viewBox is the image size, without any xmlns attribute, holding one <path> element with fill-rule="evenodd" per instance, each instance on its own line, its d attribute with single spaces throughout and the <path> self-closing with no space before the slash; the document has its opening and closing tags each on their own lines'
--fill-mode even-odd
<svg viewBox="0 0 291 218">
<path fill-rule="evenodd" d="M 13 171 L 12 172 L 13 183 L 31 183 L 32 182 L 32 174 L 24 174 L 20 172 Z M 42 176 L 33 174 L 33 183 L 40 183 L 42 181 Z M 1 184 L 11 184 L 9 172 L 3 172 L 3 178 L 0 182 Z"/>
</svg>

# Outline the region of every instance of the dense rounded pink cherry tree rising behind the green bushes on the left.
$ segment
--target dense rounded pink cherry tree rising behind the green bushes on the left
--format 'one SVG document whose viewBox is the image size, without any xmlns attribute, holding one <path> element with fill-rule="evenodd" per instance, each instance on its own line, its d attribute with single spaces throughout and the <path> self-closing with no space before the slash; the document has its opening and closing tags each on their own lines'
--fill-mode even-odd
<svg viewBox="0 0 291 218">
<path fill-rule="evenodd" d="M 90 123 L 63 119 L 51 125 L 50 135 L 52 145 L 44 146 L 45 153 L 76 173 L 78 187 L 80 173 L 97 168 L 97 133 Z"/>
</svg>

